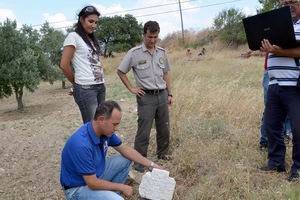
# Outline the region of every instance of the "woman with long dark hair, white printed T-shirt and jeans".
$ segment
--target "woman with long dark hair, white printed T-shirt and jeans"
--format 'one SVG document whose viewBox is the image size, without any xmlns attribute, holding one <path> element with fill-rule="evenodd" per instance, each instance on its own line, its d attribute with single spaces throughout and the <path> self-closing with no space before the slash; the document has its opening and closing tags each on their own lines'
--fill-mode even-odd
<svg viewBox="0 0 300 200">
<path fill-rule="evenodd" d="M 78 14 L 75 32 L 68 34 L 60 68 L 73 84 L 73 96 L 84 123 L 93 119 L 99 103 L 105 100 L 100 46 L 94 35 L 100 13 L 94 6 L 84 7 Z"/>
</svg>

